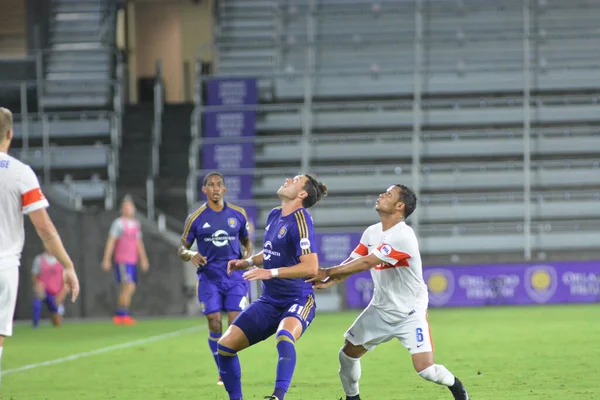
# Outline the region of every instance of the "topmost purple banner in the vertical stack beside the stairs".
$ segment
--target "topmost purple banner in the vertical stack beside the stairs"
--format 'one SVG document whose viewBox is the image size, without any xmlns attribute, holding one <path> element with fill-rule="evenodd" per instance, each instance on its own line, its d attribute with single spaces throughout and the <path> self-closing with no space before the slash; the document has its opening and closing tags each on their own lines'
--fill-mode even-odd
<svg viewBox="0 0 600 400">
<path fill-rule="evenodd" d="M 206 82 L 209 106 L 258 104 L 254 78 L 211 79 Z"/>
</svg>

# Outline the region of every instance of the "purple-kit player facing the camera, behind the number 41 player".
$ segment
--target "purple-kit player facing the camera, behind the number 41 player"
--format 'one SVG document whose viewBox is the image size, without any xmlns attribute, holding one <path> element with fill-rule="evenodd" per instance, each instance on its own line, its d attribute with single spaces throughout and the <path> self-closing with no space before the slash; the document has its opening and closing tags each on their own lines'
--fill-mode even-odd
<svg viewBox="0 0 600 400">
<path fill-rule="evenodd" d="M 241 271 L 227 274 L 227 262 L 252 254 L 246 211 L 225 202 L 226 191 L 220 173 L 210 172 L 204 177 L 206 203 L 188 216 L 179 248 L 181 259 L 198 267 L 198 301 L 208 319 L 208 345 L 217 368 L 217 341 L 223 334 L 221 312 L 227 312 L 231 325 L 248 305 L 248 282 Z M 189 251 L 194 242 L 198 246 L 195 254 Z M 217 383 L 223 384 L 220 377 Z"/>
</svg>

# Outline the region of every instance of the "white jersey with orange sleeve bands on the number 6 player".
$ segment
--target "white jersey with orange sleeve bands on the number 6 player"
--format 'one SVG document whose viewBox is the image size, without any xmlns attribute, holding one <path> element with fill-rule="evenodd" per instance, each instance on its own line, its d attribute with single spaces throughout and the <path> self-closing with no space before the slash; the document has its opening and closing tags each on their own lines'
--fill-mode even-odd
<svg viewBox="0 0 600 400">
<path fill-rule="evenodd" d="M 379 311 L 381 318 L 394 324 L 412 311 L 425 312 L 429 297 L 413 229 L 404 221 L 387 231 L 383 231 L 381 222 L 369 226 L 350 257 L 371 253 L 381 260 L 381 264 L 371 269 L 375 288 L 371 306 Z"/>
</svg>

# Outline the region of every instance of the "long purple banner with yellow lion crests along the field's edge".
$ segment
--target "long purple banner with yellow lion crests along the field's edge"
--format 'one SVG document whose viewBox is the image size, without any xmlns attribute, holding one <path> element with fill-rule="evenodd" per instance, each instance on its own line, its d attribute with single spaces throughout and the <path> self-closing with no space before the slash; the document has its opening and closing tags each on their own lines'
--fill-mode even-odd
<svg viewBox="0 0 600 400">
<path fill-rule="evenodd" d="M 430 307 L 600 302 L 600 261 L 426 267 Z M 370 273 L 346 280 L 348 307 L 371 300 Z"/>
</svg>

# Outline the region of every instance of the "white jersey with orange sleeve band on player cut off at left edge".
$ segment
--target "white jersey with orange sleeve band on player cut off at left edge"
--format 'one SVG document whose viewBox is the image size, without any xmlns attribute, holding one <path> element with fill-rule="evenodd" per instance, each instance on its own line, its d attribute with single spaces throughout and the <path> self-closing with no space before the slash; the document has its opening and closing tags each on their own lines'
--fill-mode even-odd
<svg viewBox="0 0 600 400">
<path fill-rule="evenodd" d="M 23 215 L 45 207 L 48 201 L 31 167 L 0 152 L 0 270 L 19 266 Z"/>
</svg>

